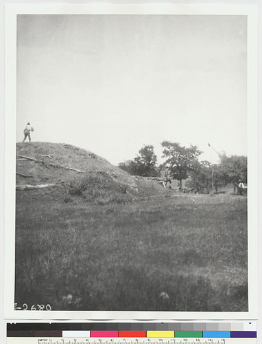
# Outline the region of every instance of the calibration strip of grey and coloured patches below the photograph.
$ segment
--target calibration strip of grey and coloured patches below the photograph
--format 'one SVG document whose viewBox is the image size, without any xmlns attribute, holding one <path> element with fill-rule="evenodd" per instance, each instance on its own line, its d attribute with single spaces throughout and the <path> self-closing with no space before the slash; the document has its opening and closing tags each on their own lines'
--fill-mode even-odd
<svg viewBox="0 0 262 344">
<path fill-rule="evenodd" d="M 8 323 L 8 337 L 257 338 L 257 323 Z"/>
</svg>

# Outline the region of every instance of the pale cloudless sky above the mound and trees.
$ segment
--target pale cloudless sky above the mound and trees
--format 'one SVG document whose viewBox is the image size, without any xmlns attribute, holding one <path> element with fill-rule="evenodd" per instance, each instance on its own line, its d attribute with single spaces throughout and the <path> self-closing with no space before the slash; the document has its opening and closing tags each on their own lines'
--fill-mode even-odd
<svg viewBox="0 0 262 344">
<path fill-rule="evenodd" d="M 163 140 L 247 155 L 245 16 L 17 17 L 16 141 L 64 142 L 112 164 Z"/>
</svg>

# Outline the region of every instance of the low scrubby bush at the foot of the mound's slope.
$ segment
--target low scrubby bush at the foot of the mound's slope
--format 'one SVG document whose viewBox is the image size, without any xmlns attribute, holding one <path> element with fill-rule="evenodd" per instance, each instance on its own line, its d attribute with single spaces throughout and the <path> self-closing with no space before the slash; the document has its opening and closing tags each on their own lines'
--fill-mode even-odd
<svg viewBox="0 0 262 344">
<path fill-rule="evenodd" d="M 73 180 L 68 192 L 95 204 L 132 202 L 128 188 L 106 172 L 88 173 L 83 178 Z"/>
</svg>

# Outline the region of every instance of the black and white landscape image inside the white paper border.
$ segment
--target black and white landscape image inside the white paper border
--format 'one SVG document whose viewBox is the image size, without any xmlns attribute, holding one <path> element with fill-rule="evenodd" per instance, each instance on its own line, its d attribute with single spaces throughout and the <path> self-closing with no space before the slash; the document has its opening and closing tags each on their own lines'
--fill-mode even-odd
<svg viewBox="0 0 262 344">
<path fill-rule="evenodd" d="M 247 15 L 17 14 L 15 106 L 16 312 L 250 310 Z"/>
</svg>

